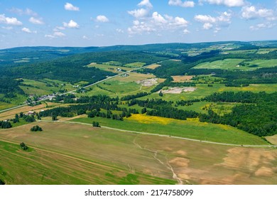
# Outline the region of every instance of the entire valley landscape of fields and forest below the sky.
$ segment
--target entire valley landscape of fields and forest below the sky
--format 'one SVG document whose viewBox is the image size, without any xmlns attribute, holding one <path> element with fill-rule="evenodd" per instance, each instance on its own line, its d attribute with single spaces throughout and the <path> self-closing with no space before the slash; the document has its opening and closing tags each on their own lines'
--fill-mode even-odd
<svg viewBox="0 0 277 199">
<path fill-rule="evenodd" d="M 169 43 L 50 56 L 45 48 L 40 63 L 16 55 L 0 68 L 0 180 L 276 184 L 276 49 Z"/>
</svg>

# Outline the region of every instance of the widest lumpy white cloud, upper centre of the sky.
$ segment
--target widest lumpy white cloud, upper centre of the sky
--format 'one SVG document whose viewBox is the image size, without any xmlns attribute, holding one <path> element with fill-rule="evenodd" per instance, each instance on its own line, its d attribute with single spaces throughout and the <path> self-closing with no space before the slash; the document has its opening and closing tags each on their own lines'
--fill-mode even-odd
<svg viewBox="0 0 277 199">
<path fill-rule="evenodd" d="M 153 12 L 150 18 L 145 20 L 135 20 L 133 21 L 133 26 L 128 28 L 130 34 L 141 34 L 141 33 L 151 33 L 154 31 L 162 30 L 175 30 L 180 28 L 185 28 L 188 26 L 188 21 L 185 18 L 176 16 L 162 16 L 158 12 Z"/>
</svg>

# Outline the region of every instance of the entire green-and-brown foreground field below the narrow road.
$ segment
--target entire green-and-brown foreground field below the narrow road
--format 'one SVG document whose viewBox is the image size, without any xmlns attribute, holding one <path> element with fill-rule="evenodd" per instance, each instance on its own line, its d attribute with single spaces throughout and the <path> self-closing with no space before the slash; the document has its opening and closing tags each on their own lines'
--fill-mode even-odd
<svg viewBox="0 0 277 199">
<path fill-rule="evenodd" d="M 6 184 L 275 184 L 277 181 L 277 152 L 273 149 L 205 144 L 80 124 L 35 124 L 43 131 L 31 132 L 33 124 L 0 130 L 0 151 L 4 154 L 0 178 Z M 28 151 L 19 148 L 21 141 L 29 146 Z"/>
</svg>

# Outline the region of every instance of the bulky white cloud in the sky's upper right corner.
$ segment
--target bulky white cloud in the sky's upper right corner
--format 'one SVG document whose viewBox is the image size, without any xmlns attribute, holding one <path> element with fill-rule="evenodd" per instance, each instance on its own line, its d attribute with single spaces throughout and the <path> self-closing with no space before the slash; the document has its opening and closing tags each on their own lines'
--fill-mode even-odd
<svg viewBox="0 0 277 199">
<path fill-rule="evenodd" d="M 242 18 L 254 19 L 254 18 L 268 18 L 273 17 L 274 12 L 271 9 L 257 9 L 255 6 L 245 6 L 241 9 Z"/>
</svg>

